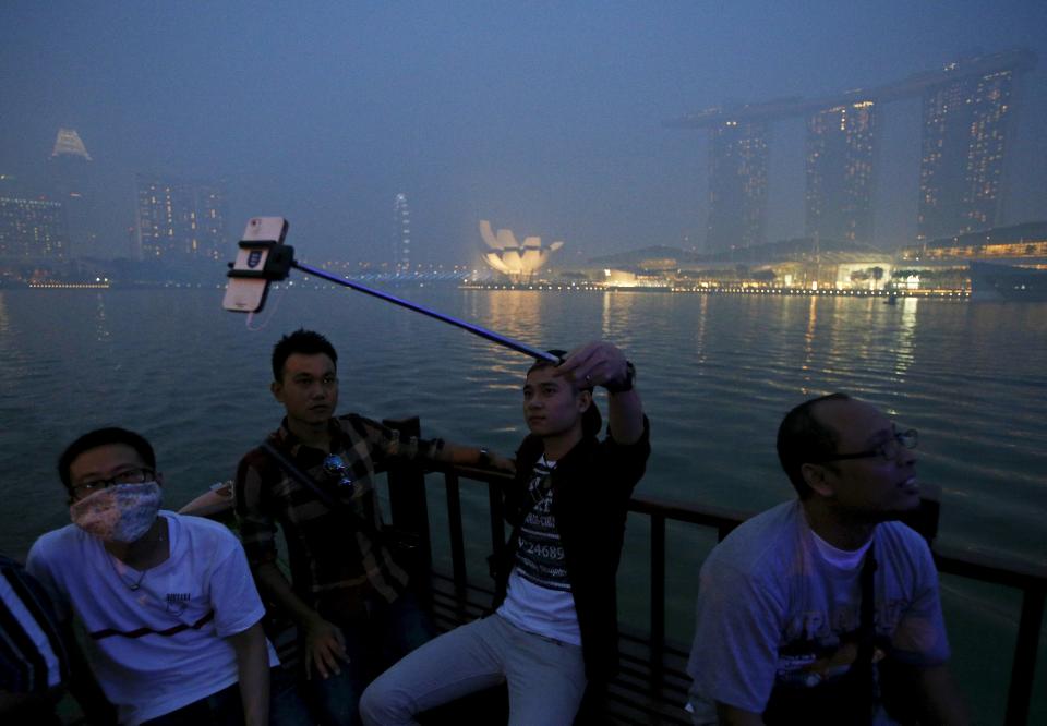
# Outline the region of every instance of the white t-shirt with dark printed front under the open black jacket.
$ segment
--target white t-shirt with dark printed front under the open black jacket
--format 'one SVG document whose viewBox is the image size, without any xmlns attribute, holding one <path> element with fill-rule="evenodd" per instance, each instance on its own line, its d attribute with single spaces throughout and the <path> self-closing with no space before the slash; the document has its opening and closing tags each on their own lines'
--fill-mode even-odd
<svg viewBox="0 0 1047 726">
<path fill-rule="evenodd" d="M 542 486 L 555 465 L 544 455 L 534 463 L 530 491 L 531 496 L 541 498 L 524 518 L 516 562 L 498 615 L 520 630 L 581 645 L 567 559 L 552 512 L 553 491 Z"/>
</svg>

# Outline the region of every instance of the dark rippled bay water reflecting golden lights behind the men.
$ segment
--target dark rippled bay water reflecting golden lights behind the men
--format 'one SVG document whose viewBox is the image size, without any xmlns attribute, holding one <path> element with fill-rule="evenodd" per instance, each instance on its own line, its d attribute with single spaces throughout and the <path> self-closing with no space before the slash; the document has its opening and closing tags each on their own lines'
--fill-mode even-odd
<svg viewBox="0 0 1047 726">
<path fill-rule="evenodd" d="M 645 494 L 754 511 L 791 497 L 773 453 L 779 420 L 805 397 L 846 390 L 919 429 L 920 480 L 942 489 L 942 543 L 1047 565 L 1047 304 L 399 292 L 541 348 L 618 343 L 652 421 Z M 299 326 L 338 348 L 344 409 L 418 414 L 423 432 L 504 452 L 524 434 L 528 360 L 518 354 L 340 290 L 293 288 L 257 331 L 222 313 L 220 298 L 216 289 L 0 292 L 0 549 L 24 555 L 68 521 L 53 460 L 89 427 L 145 434 L 171 506 L 230 477 L 278 423 L 268 352 Z M 476 509 L 467 516 L 479 518 L 482 503 L 467 497 Z M 630 522 L 622 578 L 636 586 L 623 590 L 646 592 L 645 535 L 642 521 Z M 670 536 L 671 634 L 686 640 L 711 541 L 675 528 Z M 483 549 L 477 543 L 472 554 Z M 987 677 L 986 667 L 1009 668 L 1016 601 L 951 580 L 943 589 L 947 617 L 962 624 L 959 636 L 952 627 L 958 670 L 977 680 L 977 713 L 995 723 L 1006 674 Z M 645 617 L 628 596 L 623 612 Z"/>
</svg>

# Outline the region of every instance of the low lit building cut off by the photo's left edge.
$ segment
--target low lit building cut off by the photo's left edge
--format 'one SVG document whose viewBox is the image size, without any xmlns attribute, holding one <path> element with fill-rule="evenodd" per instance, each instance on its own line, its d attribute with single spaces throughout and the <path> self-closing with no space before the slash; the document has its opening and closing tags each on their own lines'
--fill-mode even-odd
<svg viewBox="0 0 1047 726">
<path fill-rule="evenodd" d="M 0 196 L 0 259 L 61 261 L 68 256 L 65 214 L 58 202 Z"/>
</svg>

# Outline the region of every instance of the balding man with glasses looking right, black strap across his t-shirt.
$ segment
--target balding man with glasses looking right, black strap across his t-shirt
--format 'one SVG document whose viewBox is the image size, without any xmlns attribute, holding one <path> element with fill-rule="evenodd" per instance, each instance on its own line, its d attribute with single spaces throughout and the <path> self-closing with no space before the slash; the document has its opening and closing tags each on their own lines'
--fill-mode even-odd
<svg viewBox="0 0 1047 726">
<path fill-rule="evenodd" d="M 893 521 L 919 506 L 915 446 L 844 394 L 784 418 L 778 453 L 799 498 L 701 568 L 695 724 L 966 723 L 930 549 Z"/>
</svg>

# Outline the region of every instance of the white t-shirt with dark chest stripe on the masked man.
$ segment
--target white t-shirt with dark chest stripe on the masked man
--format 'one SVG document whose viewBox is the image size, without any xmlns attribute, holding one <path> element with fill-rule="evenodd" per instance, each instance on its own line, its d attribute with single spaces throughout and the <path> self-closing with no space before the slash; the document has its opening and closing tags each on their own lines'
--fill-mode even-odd
<svg viewBox="0 0 1047 726">
<path fill-rule="evenodd" d="M 37 540 L 26 564 L 59 615 L 71 608 L 83 622 L 95 676 L 120 723 L 132 725 L 236 683 L 236 653 L 226 638 L 265 613 L 243 548 L 226 527 L 160 515 L 170 557 L 144 574 L 75 524 Z M 277 665 L 267 646 L 269 665 Z"/>
</svg>

